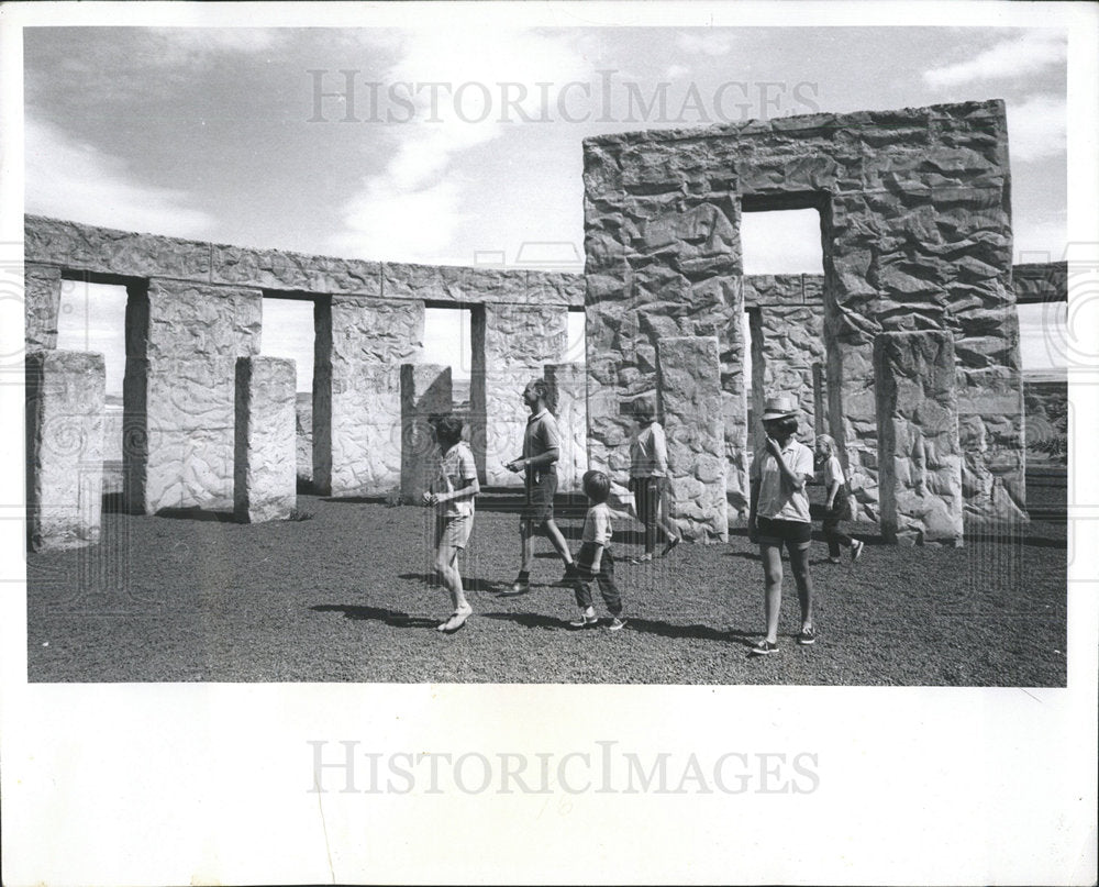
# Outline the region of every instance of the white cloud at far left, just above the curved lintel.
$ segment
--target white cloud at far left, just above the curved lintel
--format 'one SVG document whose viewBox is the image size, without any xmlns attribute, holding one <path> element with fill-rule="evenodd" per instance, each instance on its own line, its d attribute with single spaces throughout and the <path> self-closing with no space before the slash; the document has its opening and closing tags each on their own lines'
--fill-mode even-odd
<svg viewBox="0 0 1099 887">
<path fill-rule="evenodd" d="M 126 231 L 193 237 L 214 220 L 184 191 L 134 181 L 123 160 L 27 119 L 26 211 Z"/>
</svg>

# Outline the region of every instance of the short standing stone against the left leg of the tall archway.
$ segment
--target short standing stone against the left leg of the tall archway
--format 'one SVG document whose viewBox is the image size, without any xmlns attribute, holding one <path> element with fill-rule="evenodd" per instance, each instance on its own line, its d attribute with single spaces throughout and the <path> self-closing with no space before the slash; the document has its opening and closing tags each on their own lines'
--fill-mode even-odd
<svg viewBox="0 0 1099 887">
<path fill-rule="evenodd" d="M 669 517 L 687 537 L 729 537 L 717 336 L 660 339 L 657 390 L 668 441 Z"/>
</svg>

